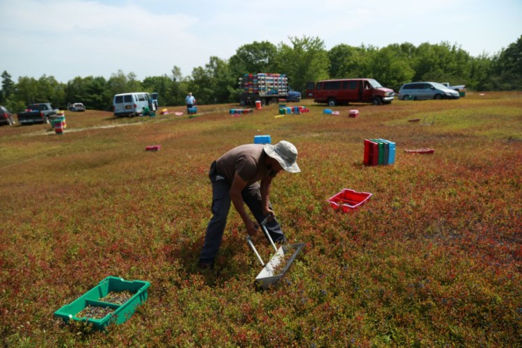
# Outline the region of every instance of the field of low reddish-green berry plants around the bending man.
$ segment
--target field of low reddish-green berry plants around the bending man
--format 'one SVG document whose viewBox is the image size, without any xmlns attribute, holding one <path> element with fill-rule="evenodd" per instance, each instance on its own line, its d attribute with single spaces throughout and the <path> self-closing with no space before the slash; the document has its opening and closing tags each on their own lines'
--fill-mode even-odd
<svg viewBox="0 0 522 348">
<path fill-rule="evenodd" d="M 310 113 L 282 118 L 276 106 L 232 118 L 235 105 L 196 118 L 66 113 L 63 135 L 0 127 L 2 344 L 522 345 L 522 94 L 340 116 L 301 104 Z M 278 175 L 271 201 L 290 241 L 306 243 L 264 292 L 233 210 L 216 268 L 196 267 L 209 164 L 261 134 L 299 150 L 302 172 Z M 395 164 L 363 166 L 366 138 L 395 141 Z M 434 155 L 403 152 L 422 147 Z M 334 211 L 326 200 L 344 188 L 373 196 Z M 254 243 L 271 255 L 262 232 Z M 125 324 L 97 333 L 53 316 L 106 276 L 151 283 Z"/>
</svg>

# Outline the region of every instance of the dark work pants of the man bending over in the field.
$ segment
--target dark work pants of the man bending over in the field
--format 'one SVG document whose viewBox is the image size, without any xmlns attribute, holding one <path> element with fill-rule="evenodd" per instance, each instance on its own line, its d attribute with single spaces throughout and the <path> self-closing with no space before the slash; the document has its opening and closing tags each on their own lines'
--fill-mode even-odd
<svg viewBox="0 0 522 348">
<path fill-rule="evenodd" d="M 223 239 L 228 211 L 232 204 L 229 193 L 230 183 L 223 176 L 219 175 L 219 173 L 216 173 L 214 163 L 210 168 L 209 178 L 212 182 L 213 216 L 208 223 L 207 232 L 205 234 L 205 244 L 203 244 L 203 249 L 200 253 L 200 262 L 203 263 L 212 263 L 216 258 L 219 246 L 221 246 L 221 240 Z M 250 209 L 261 228 L 261 221 L 264 220 L 265 216 L 263 215 L 262 209 L 260 184 L 256 182 L 255 184 L 245 187 L 241 194 L 244 203 L 248 209 Z M 267 222 L 265 226 L 274 242 L 281 242 L 284 240 L 285 235 L 283 235 L 276 219 Z M 262 233 L 264 234 L 264 232 Z"/>
</svg>

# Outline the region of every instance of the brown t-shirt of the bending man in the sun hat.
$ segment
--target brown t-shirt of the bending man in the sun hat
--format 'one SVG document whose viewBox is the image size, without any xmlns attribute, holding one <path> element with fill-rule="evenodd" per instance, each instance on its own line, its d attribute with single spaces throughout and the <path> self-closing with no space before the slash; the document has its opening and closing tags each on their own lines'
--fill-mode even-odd
<svg viewBox="0 0 522 348">
<path fill-rule="evenodd" d="M 232 183 L 237 172 L 248 185 L 258 182 L 268 176 L 268 168 L 264 164 L 267 156 L 263 144 L 239 145 L 226 152 L 216 160 L 218 173 Z"/>
</svg>

